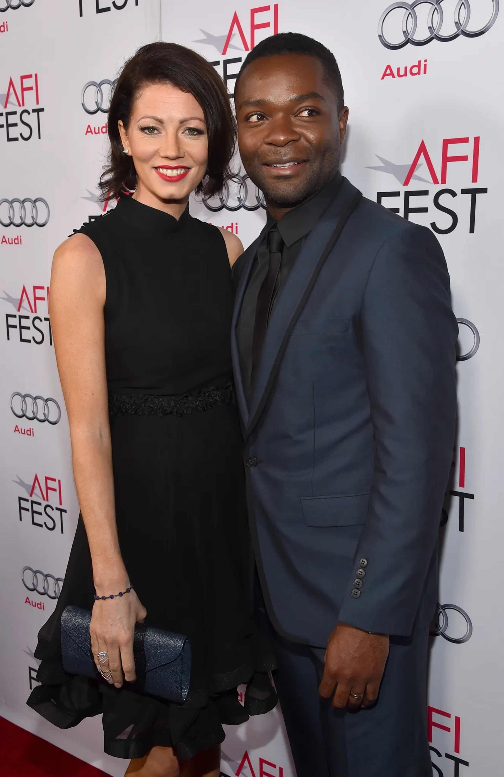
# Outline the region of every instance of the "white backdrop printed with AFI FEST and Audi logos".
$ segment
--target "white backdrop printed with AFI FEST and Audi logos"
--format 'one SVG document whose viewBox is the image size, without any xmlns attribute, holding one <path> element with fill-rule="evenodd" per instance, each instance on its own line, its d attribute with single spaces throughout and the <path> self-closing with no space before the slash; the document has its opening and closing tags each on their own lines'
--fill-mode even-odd
<svg viewBox="0 0 504 777">
<path fill-rule="evenodd" d="M 350 109 L 343 172 L 436 233 L 459 321 L 459 420 L 440 515 L 429 739 L 433 775 L 502 773 L 502 68 L 499 0 L 0 0 L 0 715 L 110 775 L 99 719 L 61 731 L 25 705 L 78 517 L 47 299 L 55 247 L 100 203 L 110 92 L 151 40 L 194 48 L 233 93 L 246 53 L 299 31 L 336 55 Z M 265 219 L 235 160 L 193 214 L 245 246 Z M 225 777 L 295 777 L 280 710 L 230 728 Z M 314 775 L 315 777 L 315 775 Z"/>
</svg>

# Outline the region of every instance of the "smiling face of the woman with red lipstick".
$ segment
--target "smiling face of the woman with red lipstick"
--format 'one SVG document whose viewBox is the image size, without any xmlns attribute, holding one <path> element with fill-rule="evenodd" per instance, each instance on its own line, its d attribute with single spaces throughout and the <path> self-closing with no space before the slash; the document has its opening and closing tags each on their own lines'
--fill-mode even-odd
<svg viewBox="0 0 504 777">
<path fill-rule="evenodd" d="M 169 83 L 146 84 L 119 131 L 137 171 L 137 199 L 186 202 L 207 171 L 207 125 L 196 98 Z"/>
</svg>

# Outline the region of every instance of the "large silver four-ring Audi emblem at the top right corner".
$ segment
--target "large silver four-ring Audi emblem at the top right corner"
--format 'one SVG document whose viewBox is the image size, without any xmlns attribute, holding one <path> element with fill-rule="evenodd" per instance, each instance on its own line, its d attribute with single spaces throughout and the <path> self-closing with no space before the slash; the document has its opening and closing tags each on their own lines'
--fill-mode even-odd
<svg viewBox="0 0 504 777">
<path fill-rule="evenodd" d="M 378 22 L 378 38 L 397 51 L 408 44 L 426 46 L 433 40 L 450 43 L 458 37 L 488 33 L 499 16 L 499 0 L 414 0 L 393 2 Z"/>
</svg>

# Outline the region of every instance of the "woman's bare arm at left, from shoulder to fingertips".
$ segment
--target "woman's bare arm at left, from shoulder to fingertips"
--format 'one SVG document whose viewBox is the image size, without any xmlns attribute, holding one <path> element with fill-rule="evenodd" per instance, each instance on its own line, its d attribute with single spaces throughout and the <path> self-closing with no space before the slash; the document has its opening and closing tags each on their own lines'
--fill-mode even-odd
<svg viewBox="0 0 504 777">
<path fill-rule="evenodd" d="M 102 257 L 85 235 L 74 235 L 54 254 L 50 321 L 68 413 L 75 486 L 88 535 L 99 596 L 124 591 L 130 580 L 117 539 L 106 385 Z M 96 601 L 92 652 L 109 653 L 115 685 L 134 680 L 133 632 L 145 610 L 134 591 Z M 106 669 L 106 664 L 104 665 Z"/>
</svg>

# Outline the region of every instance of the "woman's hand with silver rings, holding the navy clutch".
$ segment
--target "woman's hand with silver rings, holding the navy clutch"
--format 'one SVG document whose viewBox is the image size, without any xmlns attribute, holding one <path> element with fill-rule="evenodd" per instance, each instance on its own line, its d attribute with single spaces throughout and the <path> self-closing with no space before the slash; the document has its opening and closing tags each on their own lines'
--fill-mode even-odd
<svg viewBox="0 0 504 777">
<path fill-rule="evenodd" d="M 124 591 L 127 587 L 129 584 L 120 590 Z M 99 591 L 96 593 L 100 594 Z M 116 688 L 123 685 L 123 673 L 127 682 L 137 679 L 133 657 L 134 629 L 137 623 L 144 622 L 146 615 L 147 610 L 134 590 L 113 599 L 99 599 L 92 608 L 89 625 L 92 654 L 100 672 L 112 672 L 108 682 Z M 108 661 L 101 664 L 98 653 L 108 653 Z"/>
</svg>

